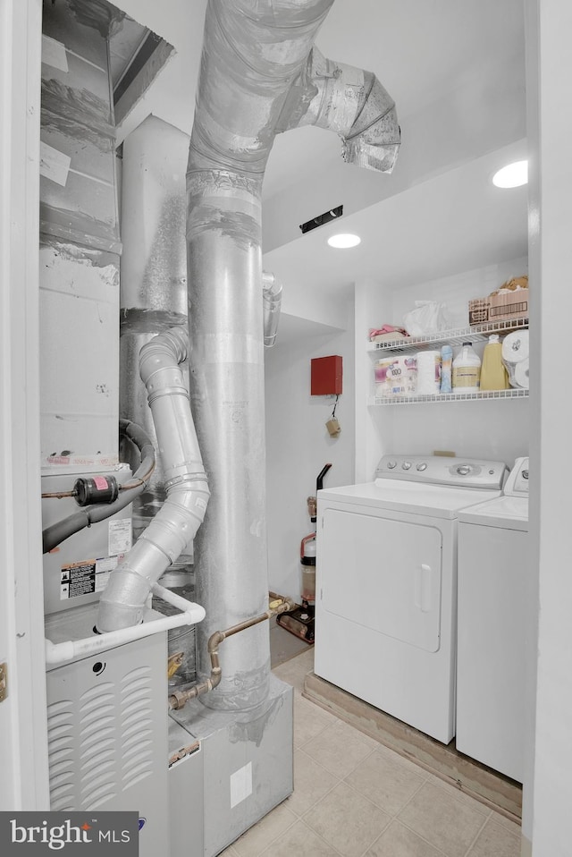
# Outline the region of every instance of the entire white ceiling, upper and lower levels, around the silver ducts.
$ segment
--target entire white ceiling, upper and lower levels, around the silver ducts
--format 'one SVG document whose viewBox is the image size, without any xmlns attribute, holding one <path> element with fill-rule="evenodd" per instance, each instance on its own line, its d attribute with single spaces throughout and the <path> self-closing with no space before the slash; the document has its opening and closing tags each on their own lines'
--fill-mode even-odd
<svg viewBox="0 0 572 857">
<path fill-rule="evenodd" d="M 116 2 L 177 52 L 120 138 L 149 113 L 189 133 L 206 0 Z M 279 135 L 263 250 L 285 288 L 342 294 L 363 276 L 395 287 L 526 255 L 526 189 L 490 184 L 504 157 L 526 151 L 522 0 L 336 0 L 316 44 L 375 72 L 395 99 L 403 143 L 388 176 L 344 165 L 332 133 Z M 301 235 L 299 224 L 340 204 L 337 226 L 361 235 L 358 248 L 328 248 L 332 225 Z"/>
</svg>

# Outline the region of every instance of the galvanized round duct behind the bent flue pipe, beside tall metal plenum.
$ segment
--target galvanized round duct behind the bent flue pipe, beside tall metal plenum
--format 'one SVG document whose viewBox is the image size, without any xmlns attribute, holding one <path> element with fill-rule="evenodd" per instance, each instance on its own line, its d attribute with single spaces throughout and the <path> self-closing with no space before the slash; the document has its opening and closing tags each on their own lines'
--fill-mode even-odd
<svg viewBox="0 0 572 857">
<path fill-rule="evenodd" d="M 189 135 L 147 116 L 122 147 L 122 260 L 120 413 L 147 431 L 156 431 L 139 378 L 139 352 L 154 336 L 187 324 L 185 247 L 185 164 Z M 187 367 L 182 366 L 185 383 Z M 133 503 L 135 538 L 164 503 L 161 456 L 147 489 Z M 129 462 L 130 450 L 122 450 Z M 192 551 L 191 551 L 192 553 Z M 181 557 L 181 563 L 192 556 Z"/>
</svg>

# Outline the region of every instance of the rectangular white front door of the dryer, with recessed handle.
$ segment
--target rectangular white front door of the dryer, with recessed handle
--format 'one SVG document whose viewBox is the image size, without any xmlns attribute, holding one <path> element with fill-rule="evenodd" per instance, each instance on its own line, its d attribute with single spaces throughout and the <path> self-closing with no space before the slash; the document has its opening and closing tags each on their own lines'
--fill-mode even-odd
<svg viewBox="0 0 572 857">
<path fill-rule="evenodd" d="M 435 652 L 441 636 L 442 533 L 413 518 L 325 509 L 317 551 L 322 607 Z"/>
</svg>

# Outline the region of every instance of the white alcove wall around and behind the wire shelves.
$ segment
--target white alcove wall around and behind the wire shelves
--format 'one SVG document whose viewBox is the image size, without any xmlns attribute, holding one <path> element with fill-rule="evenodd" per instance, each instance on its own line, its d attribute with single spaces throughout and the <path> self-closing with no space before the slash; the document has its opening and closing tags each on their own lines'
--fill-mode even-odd
<svg viewBox="0 0 572 857">
<path fill-rule="evenodd" d="M 371 281 L 357 284 L 356 412 L 357 480 L 371 479 L 383 453 L 432 454 L 448 450 L 459 456 L 503 461 L 512 466 L 528 454 L 530 403 L 526 398 L 412 405 L 366 406 L 373 393 L 374 360 L 366 352 L 370 327 L 403 326 L 415 301 L 436 301 L 450 318 L 450 327 L 467 326 L 467 303 L 498 288 L 511 276 L 526 274 L 526 258 L 418 283 L 398 291 Z M 484 343 L 476 344 L 482 354 Z M 456 354 L 458 348 L 453 349 Z M 359 369 L 361 367 L 361 369 Z M 364 382 L 363 376 L 367 376 Z"/>
</svg>

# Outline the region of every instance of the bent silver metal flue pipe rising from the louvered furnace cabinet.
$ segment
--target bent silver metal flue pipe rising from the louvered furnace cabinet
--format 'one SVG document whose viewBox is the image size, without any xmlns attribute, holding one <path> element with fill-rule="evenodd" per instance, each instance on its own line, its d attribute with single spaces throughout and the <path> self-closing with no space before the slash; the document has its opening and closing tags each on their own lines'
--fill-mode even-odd
<svg viewBox="0 0 572 857">
<path fill-rule="evenodd" d="M 179 365 L 187 350 L 186 331 L 172 327 L 140 352 L 139 371 L 155 423 L 167 498 L 111 574 L 99 602 L 100 632 L 141 622 L 153 584 L 194 539 L 205 517 L 210 492 Z"/>
</svg>

